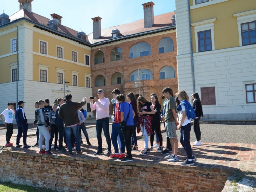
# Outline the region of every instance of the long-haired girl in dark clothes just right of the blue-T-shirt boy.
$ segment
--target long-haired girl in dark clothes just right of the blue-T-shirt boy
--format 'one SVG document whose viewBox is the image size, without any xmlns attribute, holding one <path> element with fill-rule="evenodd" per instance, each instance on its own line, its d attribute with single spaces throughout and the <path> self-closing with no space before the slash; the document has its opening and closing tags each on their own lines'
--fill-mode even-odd
<svg viewBox="0 0 256 192">
<path fill-rule="evenodd" d="M 137 103 L 135 96 L 132 92 L 127 94 L 127 101 L 132 105 L 133 111 L 135 113 L 135 116 L 133 118 L 133 134 L 132 134 L 132 151 L 138 151 L 138 143 L 137 143 L 137 136 L 136 136 L 136 126 L 137 122 L 139 120 L 139 115 L 138 115 L 138 109 L 137 109 Z"/>
</svg>

